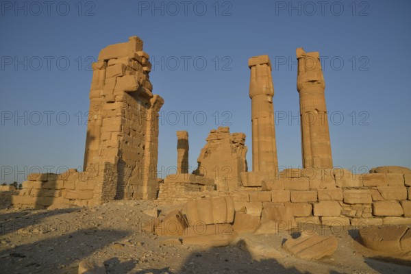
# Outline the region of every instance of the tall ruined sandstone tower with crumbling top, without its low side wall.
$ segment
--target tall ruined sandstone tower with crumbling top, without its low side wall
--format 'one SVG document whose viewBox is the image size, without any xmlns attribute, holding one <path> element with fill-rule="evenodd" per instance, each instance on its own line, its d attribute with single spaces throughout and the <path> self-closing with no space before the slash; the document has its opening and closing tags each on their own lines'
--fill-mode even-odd
<svg viewBox="0 0 411 274">
<path fill-rule="evenodd" d="M 164 101 L 151 93 L 151 64 L 142 40 L 133 36 L 106 47 L 92 67 L 84 166 L 110 172 L 96 185 L 95 198 L 155 199 L 158 111 Z"/>
</svg>

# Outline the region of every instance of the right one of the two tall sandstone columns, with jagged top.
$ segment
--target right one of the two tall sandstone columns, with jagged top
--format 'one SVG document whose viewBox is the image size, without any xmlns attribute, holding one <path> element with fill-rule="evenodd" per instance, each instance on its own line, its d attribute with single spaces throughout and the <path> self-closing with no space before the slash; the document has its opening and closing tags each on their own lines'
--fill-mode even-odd
<svg viewBox="0 0 411 274">
<path fill-rule="evenodd" d="M 300 99 L 303 167 L 332 168 L 325 82 L 318 52 L 296 51 L 297 90 Z"/>
</svg>

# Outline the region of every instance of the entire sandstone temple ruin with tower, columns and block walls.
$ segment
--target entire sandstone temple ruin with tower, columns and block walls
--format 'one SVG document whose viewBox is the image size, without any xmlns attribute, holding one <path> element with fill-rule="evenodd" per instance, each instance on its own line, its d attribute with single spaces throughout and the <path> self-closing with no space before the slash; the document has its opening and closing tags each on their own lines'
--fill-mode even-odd
<svg viewBox="0 0 411 274">
<path fill-rule="evenodd" d="M 192 236 L 185 237 L 188 242 L 205 239 L 195 238 L 191 231 L 199 221 L 206 230 L 215 232 L 215 225 L 227 224 L 238 234 L 272 233 L 305 223 L 411 224 L 410 169 L 386 166 L 353 174 L 333 166 L 319 53 L 301 48 L 297 49 L 297 90 L 303 169 L 278 170 L 271 62 L 268 55 L 260 55 L 248 63 L 252 171 L 247 169 L 245 134 L 231 134 L 228 127 L 219 127 L 211 130 L 192 173 L 188 132 L 177 132 L 177 171 L 159 180 L 158 111 L 164 101 L 152 93 L 148 59 L 136 36 L 100 52 L 92 66 L 84 171 L 31 174 L 13 197 L 14 206 L 52 209 L 114 199 L 187 202 L 181 211 L 155 221 L 149 229 L 177 222 L 184 235 Z M 232 240 L 221 237 L 213 238 L 215 245 Z M 306 245 L 308 239 L 329 241 L 329 252 L 336 247 L 333 238 L 304 237 L 288 243 L 290 252 Z"/>
</svg>

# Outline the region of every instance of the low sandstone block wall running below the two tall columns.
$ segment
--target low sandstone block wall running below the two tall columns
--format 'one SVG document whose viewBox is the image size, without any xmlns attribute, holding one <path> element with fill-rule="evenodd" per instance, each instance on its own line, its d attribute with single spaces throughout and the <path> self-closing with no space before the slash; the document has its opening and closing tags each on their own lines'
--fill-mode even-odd
<svg viewBox="0 0 411 274">
<path fill-rule="evenodd" d="M 239 188 L 234 202 L 254 216 L 270 204 L 284 205 L 297 223 L 411 224 L 411 174 L 288 169 L 261 187 Z"/>
</svg>

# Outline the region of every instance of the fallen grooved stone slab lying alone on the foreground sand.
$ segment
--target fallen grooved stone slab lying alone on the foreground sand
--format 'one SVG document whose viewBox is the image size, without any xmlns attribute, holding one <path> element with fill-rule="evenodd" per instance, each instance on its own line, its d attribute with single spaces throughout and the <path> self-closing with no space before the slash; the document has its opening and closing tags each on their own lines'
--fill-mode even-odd
<svg viewBox="0 0 411 274">
<path fill-rule="evenodd" d="M 318 260 L 331 256 L 338 247 L 338 239 L 334 236 L 301 235 L 297 239 L 288 239 L 283 248 L 301 259 Z"/>
</svg>

